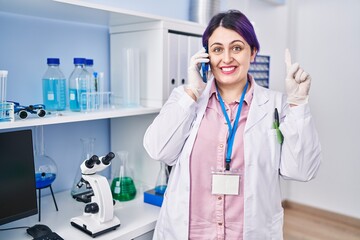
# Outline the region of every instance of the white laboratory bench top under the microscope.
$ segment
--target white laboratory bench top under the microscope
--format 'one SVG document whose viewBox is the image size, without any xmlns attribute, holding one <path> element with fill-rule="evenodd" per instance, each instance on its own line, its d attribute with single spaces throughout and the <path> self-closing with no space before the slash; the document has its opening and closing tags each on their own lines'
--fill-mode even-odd
<svg viewBox="0 0 360 240">
<path fill-rule="evenodd" d="M 21 197 L 21 191 L 19 192 Z M 59 234 L 65 240 L 87 240 L 93 239 L 91 236 L 71 226 L 70 219 L 83 214 L 85 203 L 77 202 L 70 194 L 70 191 L 64 191 L 55 194 L 55 199 L 59 211 L 56 211 L 51 195 L 44 196 L 41 199 L 41 221 L 38 221 L 38 215 L 23 218 L 0 228 L 11 227 L 31 227 L 35 224 L 45 224 L 52 231 Z M 26 199 L 24 199 L 26 201 Z M 11 204 L 11 203 L 9 203 Z M 2 206 L 6 207 L 6 206 Z M 115 215 L 120 220 L 120 227 L 116 230 L 97 236 L 97 240 L 146 240 L 152 239 L 152 233 L 155 228 L 156 220 L 160 208 L 143 202 L 142 194 L 137 194 L 134 200 L 128 202 L 116 201 Z M 27 234 L 25 228 L 0 231 L 0 239 L 26 240 L 33 239 Z"/>
</svg>

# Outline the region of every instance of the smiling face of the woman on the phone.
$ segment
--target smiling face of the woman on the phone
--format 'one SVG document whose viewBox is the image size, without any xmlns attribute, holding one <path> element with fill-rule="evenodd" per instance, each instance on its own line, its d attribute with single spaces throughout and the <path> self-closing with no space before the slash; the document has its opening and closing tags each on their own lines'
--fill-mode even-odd
<svg viewBox="0 0 360 240">
<path fill-rule="evenodd" d="M 218 27 L 208 41 L 211 71 L 219 84 L 232 85 L 247 79 L 256 51 L 237 32 Z"/>
</svg>

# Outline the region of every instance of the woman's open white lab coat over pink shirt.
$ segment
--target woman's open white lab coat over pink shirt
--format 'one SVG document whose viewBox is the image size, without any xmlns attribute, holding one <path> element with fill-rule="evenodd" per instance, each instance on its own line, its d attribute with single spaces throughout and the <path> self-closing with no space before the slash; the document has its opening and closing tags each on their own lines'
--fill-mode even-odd
<svg viewBox="0 0 360 240">
<path fill-rule="evenodd" d="M 197 102 L 183 87 L 176 88 L 145 133 L 144 147 L 149 155 L 173 166 L 153 239 L 188 239 L 189 156 L 209 100 L 210 85 Z M 280 176 L 298 181 L 314 178 L 321 147 L 308 104 L 289 108 L 284 94 L 254 85 L 244 130 L 243 236 L 244 240 L 281 240 Z M 275 107 L 281 116 L 282 146 L 272 129 Z"/>
</svg>

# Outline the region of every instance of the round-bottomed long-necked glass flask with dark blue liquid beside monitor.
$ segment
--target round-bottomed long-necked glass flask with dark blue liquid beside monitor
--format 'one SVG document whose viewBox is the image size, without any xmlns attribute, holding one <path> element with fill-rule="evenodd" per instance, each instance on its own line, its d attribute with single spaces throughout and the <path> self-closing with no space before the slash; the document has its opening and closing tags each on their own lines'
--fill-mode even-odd
<svg viewBox="0 0 360 240">
<path fill-rule="evenodd" d="M 36 188 L 49 187 L 55 180 L 57 166 L 55 161 L 45 154 L 43 126 L 35 127 L 35 181 Z"/>
</svg>

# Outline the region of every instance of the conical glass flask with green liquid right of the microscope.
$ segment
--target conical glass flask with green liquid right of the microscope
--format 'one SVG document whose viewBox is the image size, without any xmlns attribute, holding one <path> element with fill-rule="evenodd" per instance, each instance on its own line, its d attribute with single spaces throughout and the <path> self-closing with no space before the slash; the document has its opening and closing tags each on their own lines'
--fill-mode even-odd
<svg viewBox="0 0 360 240">
<path fill-rule="evenodd" d="M 136 196 L 136 187 L 132 177 L 132 173 L 128 168 L 129 153 L 127 151 L 117 152 L 117 158 L 120 161 L 120 166 L 117 173 L 113 174 L 113 180 L 111 183 L 111 193 L 113 199 L 119 201 L 129 201 L 135 198 Z"/>
</svg>

